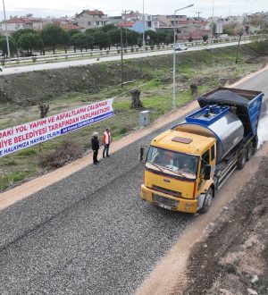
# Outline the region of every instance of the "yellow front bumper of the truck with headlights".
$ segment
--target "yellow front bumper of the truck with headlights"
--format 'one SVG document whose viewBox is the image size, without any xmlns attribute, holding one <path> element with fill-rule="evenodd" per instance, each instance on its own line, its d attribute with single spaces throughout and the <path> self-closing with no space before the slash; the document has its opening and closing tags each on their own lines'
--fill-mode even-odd
<svg viewBox="0 0 268 295">
<path fill-rule="evenodd" d="M 144 184 L 141 185 L 140 197 L 149 203 L 168 210 L 197 213 L 197 199 L 172 197 L 162 192 L 151 190 Z"/>
</svg>

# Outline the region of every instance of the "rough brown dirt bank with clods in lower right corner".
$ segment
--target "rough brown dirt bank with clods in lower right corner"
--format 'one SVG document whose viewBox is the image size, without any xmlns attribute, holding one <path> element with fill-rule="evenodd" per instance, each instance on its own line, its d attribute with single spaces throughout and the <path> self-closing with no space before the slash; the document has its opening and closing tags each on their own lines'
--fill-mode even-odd
<svg viewBox="0 0 268 295">
<path fill-rule="evenodd" d="M 192 249 L 183 294 L 268 294 L 267 200 L 266 156 L 256 176 Z"/>
</svg>

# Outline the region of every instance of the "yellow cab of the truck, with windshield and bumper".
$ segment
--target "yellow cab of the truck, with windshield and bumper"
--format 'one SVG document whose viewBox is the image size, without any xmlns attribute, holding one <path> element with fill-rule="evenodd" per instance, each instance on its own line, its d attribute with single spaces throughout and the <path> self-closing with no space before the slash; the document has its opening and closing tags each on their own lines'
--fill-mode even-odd
<svg viewBox="0 0 268 295">
<path fill-rule="evenodd" d="M 172 211 L 206 210 L 204 198 L 210 202 L 214 195 L 214 167 L 214 138 L 166 131 L 148 149 L 141 198 Z"/>
</svg>

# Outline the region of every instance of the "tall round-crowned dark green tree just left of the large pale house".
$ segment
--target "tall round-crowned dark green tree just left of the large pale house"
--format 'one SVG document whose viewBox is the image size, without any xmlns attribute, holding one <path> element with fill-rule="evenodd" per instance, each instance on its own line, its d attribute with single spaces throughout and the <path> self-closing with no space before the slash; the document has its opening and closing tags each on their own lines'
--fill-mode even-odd
<svg viewBox="0 0 268 295">
<path fill-rule="evenodd" d="M 54 24 L 47 25 L 46 28 L 41 30 L 41 38 L 43 39 L 44 46 L 52 47 L 54 54 L 56 46 L 63 45 L 64 30 Z"/>
</svg>

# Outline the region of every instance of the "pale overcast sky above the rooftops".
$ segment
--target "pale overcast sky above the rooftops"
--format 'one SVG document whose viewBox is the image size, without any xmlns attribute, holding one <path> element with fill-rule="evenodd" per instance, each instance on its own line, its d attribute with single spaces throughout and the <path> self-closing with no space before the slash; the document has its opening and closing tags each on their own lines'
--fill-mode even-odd
<svg viewBox="0 0 268 295">
<path fill-rule="evenodd" d="M 109 16 L 121 15 L 122 10 L 143 11 L 149 14 L 172 14 L 175 10 L 183 8 L 188 4 L 194 4 L 180 12 L 188 16 L 201 17 L 242 15 L 243 13 L 268 12 L 267 0 L 4 0 L 6 18 L 10 16 L 22 16 L 32 13 L 35 17 L 46 16 L 73 16 L 82 10 L 98 9 Z M 4 9 L 1 1 L 0 19 L 4 19 Z M 2 15 L 1 15 L 2 14 Z M 179 12 L 178 12 L 179 14 Z"/>
</svg>

